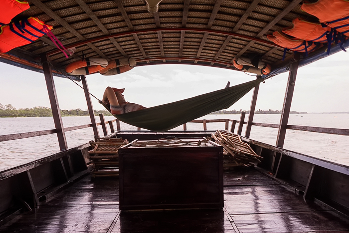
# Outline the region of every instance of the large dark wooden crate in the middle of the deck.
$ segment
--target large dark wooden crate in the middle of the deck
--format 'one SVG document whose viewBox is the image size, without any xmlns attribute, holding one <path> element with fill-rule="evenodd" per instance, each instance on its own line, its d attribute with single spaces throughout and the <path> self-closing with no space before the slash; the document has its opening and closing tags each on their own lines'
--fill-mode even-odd
<svg viewBox="0 0 349 233">
<path fill-rule="evenodd" d="M 223 149 L 211 141 L 171 147 L 130 143 L 119 149 L 119 183 L 120 210 L 222 208 Z"/>
</svg>

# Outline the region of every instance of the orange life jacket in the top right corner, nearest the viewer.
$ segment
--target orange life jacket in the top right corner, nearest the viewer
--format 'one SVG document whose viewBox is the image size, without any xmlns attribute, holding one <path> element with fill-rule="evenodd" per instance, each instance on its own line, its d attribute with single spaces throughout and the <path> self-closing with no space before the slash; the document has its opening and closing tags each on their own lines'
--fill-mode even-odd
<svg viewBox="0 0 349 233">
<path fill-rule="evenodd" d="M 349 36 L 349 0 L 318 0 L 303 3 L 301 9 L 319 18 L 320 22 Z"/>
</svg>

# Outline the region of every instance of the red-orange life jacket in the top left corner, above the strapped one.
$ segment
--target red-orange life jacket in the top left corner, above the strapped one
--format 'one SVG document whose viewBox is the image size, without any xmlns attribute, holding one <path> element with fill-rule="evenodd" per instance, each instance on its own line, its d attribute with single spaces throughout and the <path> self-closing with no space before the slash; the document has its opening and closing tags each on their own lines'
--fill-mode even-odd
<svg viewBox="0 0 349 233">
<path fill-rule="evenodd" d="M 29 9 L 27 1 L 0 0 L 0 24 L 7 24 L 20 12 Z"/>
</svg>

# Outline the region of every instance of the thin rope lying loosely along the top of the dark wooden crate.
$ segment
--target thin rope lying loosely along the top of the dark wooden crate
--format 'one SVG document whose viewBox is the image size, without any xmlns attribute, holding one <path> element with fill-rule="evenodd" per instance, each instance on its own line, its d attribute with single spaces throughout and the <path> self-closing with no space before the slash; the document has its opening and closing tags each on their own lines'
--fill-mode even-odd
<svg viewBox="0 0 349 233">
<path fill-rule="evenodd" d="M 135 147 L 167 147 L 167 146 L 184 146 L 184 145 L 193 145 L 193 146 L 200 146 L 202 143 L 205 145 L 207 144 L 208 141 L 210 141 L 211 138 L 207 137 L 203 140 L 198 140 L 198 141 L 182 141 L 179 138 L 173 138 L 173 139 L 166 139 L 166 138 L 161 138 L 158 141 L 149 141 L 149 142 L 134 142 L 131 145 Z"/>
</svg>

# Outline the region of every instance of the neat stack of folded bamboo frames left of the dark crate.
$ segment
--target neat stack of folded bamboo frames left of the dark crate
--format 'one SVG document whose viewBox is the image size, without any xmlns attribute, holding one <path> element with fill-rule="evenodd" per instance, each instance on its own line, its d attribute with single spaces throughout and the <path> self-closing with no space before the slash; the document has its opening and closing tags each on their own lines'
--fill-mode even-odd
<svg viewBox="0 0 349 233">
<path fill-rule="evenodd" d="M 96 138 L 96 142 L 90 141 L 93 148 L 89 151 L 89 159 L 93 164 L 93 177 L 115 177 L 119 176 L 119 154 L 120 147 L 128 144 L 122 138 Z"/>
</svg>

